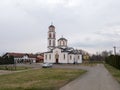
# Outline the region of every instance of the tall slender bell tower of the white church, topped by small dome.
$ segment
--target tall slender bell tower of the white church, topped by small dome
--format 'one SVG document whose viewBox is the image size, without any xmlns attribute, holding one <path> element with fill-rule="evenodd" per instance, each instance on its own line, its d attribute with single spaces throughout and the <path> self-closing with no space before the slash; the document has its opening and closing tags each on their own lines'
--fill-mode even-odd
<svg viewBox="0 0 120 90">
<path fill-rule="evenodd" d="M 52 24 L 48 27 L 48 50 L 51 51 L 56 46 L 56 32 L 55 32 L 55 26 Z"/>
</svg>

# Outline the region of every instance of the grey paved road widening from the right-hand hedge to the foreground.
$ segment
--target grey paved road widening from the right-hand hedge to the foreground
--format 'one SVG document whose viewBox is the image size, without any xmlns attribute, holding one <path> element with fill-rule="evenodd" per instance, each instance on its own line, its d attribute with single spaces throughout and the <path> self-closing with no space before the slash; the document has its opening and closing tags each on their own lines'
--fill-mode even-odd
<svg viewBox="0 0 120 90">
<path fill-rule="evenodd" d="M 88 72 L 70 82 L 60 90 L 120 90 L 120 84 L 113 79 L 104 65 L 89 67 Z"/>
</svg>

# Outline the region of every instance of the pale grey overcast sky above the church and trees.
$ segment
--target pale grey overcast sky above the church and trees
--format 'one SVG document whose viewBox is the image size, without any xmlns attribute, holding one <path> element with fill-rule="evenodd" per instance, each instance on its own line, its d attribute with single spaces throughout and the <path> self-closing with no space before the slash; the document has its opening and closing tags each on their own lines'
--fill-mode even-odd
<svg viewBox="0 0 120 90">
<path fill-rule="evenodd" d="M 120 46 L 120 0 L 0 0 L 0 53 L 47 51 L 51 22 L 70 47 Z"/>
</svg>

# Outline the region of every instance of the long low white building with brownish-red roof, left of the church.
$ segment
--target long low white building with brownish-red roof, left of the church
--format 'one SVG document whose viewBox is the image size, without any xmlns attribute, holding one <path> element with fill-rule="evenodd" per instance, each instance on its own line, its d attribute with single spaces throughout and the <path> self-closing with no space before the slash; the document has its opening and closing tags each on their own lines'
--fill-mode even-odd
<svg viewBox="0 0 120 90">
<path fill-rule="evenodd" d="M 36 63 L 36 55 L 28 53 L 6 53 L 3 57 L 14 57 L 15 63 Z"/>
</svg>

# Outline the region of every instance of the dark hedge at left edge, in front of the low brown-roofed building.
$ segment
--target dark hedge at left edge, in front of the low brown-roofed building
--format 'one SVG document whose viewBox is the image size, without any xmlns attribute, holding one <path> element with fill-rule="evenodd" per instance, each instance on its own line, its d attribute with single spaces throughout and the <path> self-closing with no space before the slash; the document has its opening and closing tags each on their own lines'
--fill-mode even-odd
<svg viewBox="0 0 120 90">
<path fill-rule="evenodd" d="M 0 65 L 14 64 L 13 56 L 0 57 Z"/>
</svg>

